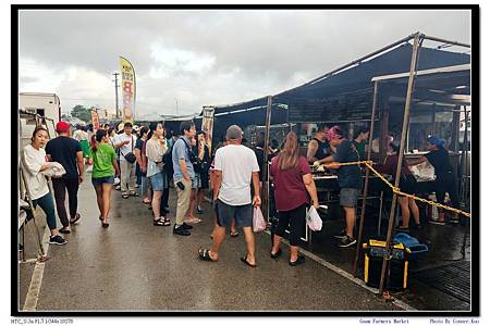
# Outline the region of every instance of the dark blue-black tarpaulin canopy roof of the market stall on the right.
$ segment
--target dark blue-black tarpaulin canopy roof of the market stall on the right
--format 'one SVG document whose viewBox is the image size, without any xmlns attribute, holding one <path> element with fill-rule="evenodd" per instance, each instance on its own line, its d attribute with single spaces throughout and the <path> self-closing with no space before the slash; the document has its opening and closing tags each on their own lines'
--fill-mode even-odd
<svg viewBox="0 0 490 326">
<path fill-rule="evenodd" d="M 409 71 L 413 46 L 406 41 L 354 61 L 343 70 L 328 73 L 302 86 L 274 95 L 271 124 L 286 122 L 332 122 L 351 120 L 355 108 L 357 120 L 370 120 L 372 82 L 376 76 Z M 469 64 L 470 55 L 440 49 L 420 48 L 417 70 Z M 406 92 L 402 85 L 400 93 Z M 213 106 L 213 105 L 211 105 Z M 215 135 L 224 134 L 231 124 L 264 125 L 267 97 L 215 108 Z M 318 110 L 320 108 L 321 110 Z M 344 110 L 344 109 L 350 109 Z M 324 113 L 328 113 L 324 115 Z"/>
</svg>

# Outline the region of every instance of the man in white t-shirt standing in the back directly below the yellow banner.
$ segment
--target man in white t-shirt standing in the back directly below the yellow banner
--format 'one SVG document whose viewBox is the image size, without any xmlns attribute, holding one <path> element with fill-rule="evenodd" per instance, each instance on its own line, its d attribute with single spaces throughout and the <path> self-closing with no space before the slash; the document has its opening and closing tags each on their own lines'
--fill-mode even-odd
<svg viewBox="0 0 490 326">
<path fill-rule="evenodd" d="M 121 195 L 124 199 L 130 196 L 137 197 L 135 191 L 136 185 L 136 160 L 128 162 L 125 155 L 133 153 L 136 147 L 136 136 L 132 134 L 133 124 L 126 122 L 124 124 L 124 133 L 114 137 L 114 148 L 120 150 L 119 162 L 121 165 Z M 136 156 L 134 156 L 136 159 Z"/>
</svg>

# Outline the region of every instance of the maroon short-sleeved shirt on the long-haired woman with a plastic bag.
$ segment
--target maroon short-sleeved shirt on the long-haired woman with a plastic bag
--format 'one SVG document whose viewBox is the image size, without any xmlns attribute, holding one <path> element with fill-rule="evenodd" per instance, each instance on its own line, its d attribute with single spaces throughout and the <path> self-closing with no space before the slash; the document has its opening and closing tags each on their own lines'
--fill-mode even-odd
<svg viewBox="0 0 490 326">
<path fill-rule="evenodd" d="M 270 174 L 274 178 L 275 209 L 291 211 L 302 204 L 309 203 L 309 195 L 303 183 L 303 176 L 311 173 L 306 158 L 299 156 L 298 165 L 294 168 L 281 171 L 279 158 L 272 159 Z"/>
</svg>

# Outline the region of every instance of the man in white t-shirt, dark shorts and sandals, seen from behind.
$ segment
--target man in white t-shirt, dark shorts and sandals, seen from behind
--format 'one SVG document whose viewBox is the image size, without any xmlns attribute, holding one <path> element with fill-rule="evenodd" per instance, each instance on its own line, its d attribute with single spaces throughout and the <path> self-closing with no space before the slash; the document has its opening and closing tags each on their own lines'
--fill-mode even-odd
<svg viewBox="0 0 490 326">
<path fill-rule="evenodd" d="M 237 227 L 243 227 L 247 255 L 242 262 L 250 267 L 255 262 L 255 238 L 252 230 L 253 205 L 260 206 L 259 166 L 252 149 L 242 145 L 243 131 L 232 125 L 226 130 L 228 146 L 216 151 L 213 202 L 217 224 L 211 249 L 199 249 L 199 258 L 218 261 L 218 251 L 223 243 L 226 227 L 234 217 Z M 254 199 L 250 198 L 250 180 L 254 183 Z"/>
</svg>

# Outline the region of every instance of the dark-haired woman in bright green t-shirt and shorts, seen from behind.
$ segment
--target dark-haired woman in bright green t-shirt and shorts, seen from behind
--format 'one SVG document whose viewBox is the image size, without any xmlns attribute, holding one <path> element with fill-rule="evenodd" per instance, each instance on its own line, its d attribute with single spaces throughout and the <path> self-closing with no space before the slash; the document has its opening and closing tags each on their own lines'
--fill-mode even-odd
<svg viewBox="0 0 490 326">
<path fill-rule="evenodd" d="M 115 175 L 120 175 L 115 151 L 109 143 L 107 130 L 99 129 L 90 139 L 90 151 L 88 153 L 88 164 L 94 164 L 91 173 L 91 184 L 97 193 L 97 204 L 99 206 L 99 220 L 102 227 L 109 226 L 109 210 L 112 185 Z"/>
</svg>

